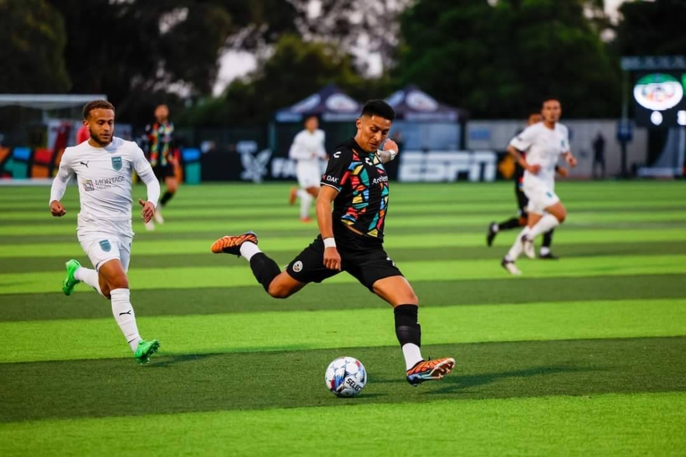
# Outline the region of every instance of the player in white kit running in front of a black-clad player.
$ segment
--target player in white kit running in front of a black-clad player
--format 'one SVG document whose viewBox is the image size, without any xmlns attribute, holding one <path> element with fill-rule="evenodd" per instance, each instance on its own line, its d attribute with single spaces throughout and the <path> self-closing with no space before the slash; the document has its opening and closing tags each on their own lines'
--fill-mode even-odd
<svg viewBox="0 0 686 457">
<path fill-rule="evenodd" d="M 514 262 L 522 250 L 534 259 L 534 239 L 554 229 L 567 217 L 567 210 L 555 194 L 555 165 L 561 155 L 573 168 L 576 158 L 569 151 L 569 131 L 558 122 L 562 115 L 560 102 L 545 100 L 541 115 L 543 121 L 525 128 L 508 146 L 508 152 L 525 169 L 523 191 L 529 199 L 527 226 L 501 261 L 503 268 L 511 274 L 521 274 Z M 520 152 L 526 152 L 526 159 Z"/>
</svg>

